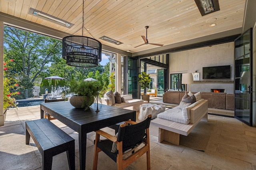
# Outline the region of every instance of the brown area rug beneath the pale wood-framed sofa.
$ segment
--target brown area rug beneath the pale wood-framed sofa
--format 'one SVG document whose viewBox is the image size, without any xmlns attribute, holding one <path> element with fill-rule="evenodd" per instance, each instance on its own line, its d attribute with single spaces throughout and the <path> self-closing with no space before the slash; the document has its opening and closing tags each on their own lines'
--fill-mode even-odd
<svg viewBox="0 0 256 170">
<path fill-rule="evenodd" d="M 180 135 L 180 145 L 205 151 L 214 128 L 214 122 L 199 121 L 188 136 Z"/>
</svg>

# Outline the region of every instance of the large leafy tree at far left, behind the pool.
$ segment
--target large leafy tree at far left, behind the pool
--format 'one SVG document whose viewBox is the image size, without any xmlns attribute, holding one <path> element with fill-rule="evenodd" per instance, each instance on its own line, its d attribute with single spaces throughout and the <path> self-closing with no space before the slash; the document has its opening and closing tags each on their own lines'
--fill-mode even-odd
<svg viewBox="0 0 256 170">
<path fill-rule="evenodd" d="M 4 53 L 7 59 L 14 60 L 10 74 L 18 74 L 20 86 L 26 89 L 32 88 L 36 78 L 42 78 L 48 64 L 60 58 L 61 48 L 62 42 L 58 39 L 4 27 Z"/>
</svg>

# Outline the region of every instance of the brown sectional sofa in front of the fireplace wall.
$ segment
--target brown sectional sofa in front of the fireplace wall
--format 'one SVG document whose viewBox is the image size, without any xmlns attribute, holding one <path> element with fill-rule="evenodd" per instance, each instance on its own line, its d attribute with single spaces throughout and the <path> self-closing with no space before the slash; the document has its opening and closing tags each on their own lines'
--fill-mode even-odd
<svg viewBox="0 0 256 170">
<path fill-rule="evenodd" d="M 195 94 L 197 92 L 192 93 Z M 184 94 L 184 91 L 165 92 L 163 95 L 163 102 L 180 104 Z M 201 98 L 208 100 L 208 107 L 234 110 L 234 94 L 226 94 L 224 92 L 201 92 Z"/>
</svg>

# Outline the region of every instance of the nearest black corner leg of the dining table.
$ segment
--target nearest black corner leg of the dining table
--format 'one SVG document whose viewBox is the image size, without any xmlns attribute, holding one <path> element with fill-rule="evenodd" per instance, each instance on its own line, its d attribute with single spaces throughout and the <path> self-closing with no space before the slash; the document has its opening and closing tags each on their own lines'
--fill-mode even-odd
<svg viewBox="0 0 256 170">
<path fill-rule="evenodd" d="M 80 170 L 85 170 L 86 163 L 86 133 L 79 133 Z"/>
</svg>

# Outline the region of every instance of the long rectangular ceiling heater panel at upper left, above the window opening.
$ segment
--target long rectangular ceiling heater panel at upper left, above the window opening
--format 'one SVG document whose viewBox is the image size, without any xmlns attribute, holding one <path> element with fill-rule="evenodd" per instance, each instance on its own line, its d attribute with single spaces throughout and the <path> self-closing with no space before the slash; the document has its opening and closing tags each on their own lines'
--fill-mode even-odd
<svg viewBox="0 0 256 170">
<path fill-rule="evenodd" d="M 64 27 L 68 27 L 68 28 L 71 28 L 74 24 L 73 23 L 69 23 L 67 21 L 64 21 L 60 18 L 56 18 L 54 16 L 51 16 L 49 14 L 46 14 L 42 11 L 38 11 L 38 10 L 35 10 L 33 8 L 30 8 L 29 11 L 28 11 L 28 14 L 32 15 L 32 16 L 36 16 L 38 18 L 42 18 L 44 20 L 48 20 L 48 21 L 51 21 L 51 22 L 54 22 L 54 23 L 57 23 L 59 25 L 62 25 Z"/>
</svg>

